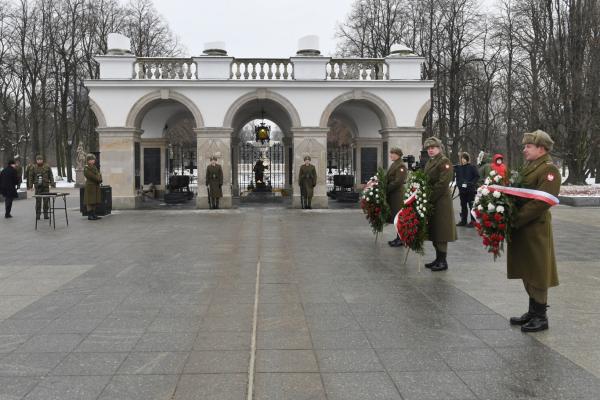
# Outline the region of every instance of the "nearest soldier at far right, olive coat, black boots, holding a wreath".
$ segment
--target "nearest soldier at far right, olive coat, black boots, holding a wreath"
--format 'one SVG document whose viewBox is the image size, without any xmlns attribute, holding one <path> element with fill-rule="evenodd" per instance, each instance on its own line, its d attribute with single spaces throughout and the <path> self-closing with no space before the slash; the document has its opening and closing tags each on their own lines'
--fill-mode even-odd
<svg viewBox="0 0 600 400">
<path fill-rule="evenodd" d="M 526 160 L 519 186 L 558 196 L 561 176 L 552 163 L 549 152 L 554 141 L 541 130 L 523 137 Z M 521 325 L 523 332 L 548 329 L 546 308 L 548 288 L 558 286 L 558 273 L 552 238 L 550 205 L 535 199 L 517 198 L 517 208 L 508 242 L 508 279 L 522 279 L 529 295 L 529 310 L 510 319 L 511 325 Z"/>
</svg>

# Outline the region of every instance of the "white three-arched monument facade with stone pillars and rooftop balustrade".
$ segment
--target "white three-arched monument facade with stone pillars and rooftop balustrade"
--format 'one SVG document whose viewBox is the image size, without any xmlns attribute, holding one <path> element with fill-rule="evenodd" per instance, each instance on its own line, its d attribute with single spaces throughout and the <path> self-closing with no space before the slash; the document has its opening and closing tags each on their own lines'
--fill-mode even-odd
<svg viewBox="0 0 600 400">
<path fill-rule="evenodd" d="M 283 132 L 285 185 L 294 207 L 300 206 L 297 173 L 306 155 L 318 175 L 312 206 L 328 206 L 332 118 L 352 132 L 357 186 L 368 179 L 361 173 L 373 169 L 366 168 L 367 154 L 377 167 L 386 165 L 392 147 L 418 159 L 433 83 L 420 79 L 423 60 L 408 49 L 384 59 L 332 59 L 305 45 L 289 59 L 236 59 L 223 45 L 209 47 L 204 55 L 186 59 L 141 58 L 115 50 L 96 58 L 100 79 L 88 80 L 86 86 L 113 208 L 140 205 L 148 166 L 144 156 L 152 153 L 156 168 L 166 171 L 165 130 L 184 118 L 191 120 L 197 143 L 198 208 L 208 208 L 203 172 L 211 156 L 218 157 L 224 171 L 221 208 L 232 206 L 240 193 L 240 132 L 261 116 Z M 165 189 L 166 176 L 153 182 L 159 190 Z"/>
</svg>

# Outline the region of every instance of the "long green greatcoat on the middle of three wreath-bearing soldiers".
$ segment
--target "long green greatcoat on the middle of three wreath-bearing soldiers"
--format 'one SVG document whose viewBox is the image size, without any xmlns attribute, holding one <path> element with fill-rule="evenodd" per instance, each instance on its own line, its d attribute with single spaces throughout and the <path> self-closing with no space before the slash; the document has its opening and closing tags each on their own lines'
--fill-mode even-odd
<svg viewBox="0 0 600 400">
<path fill-rule="evenodd" d="M 430 217 L 428 232 L 432 242 L 453 242 L 456 240 L 454 226 L 454 209 L 450 182 L 454 177 L 454 169 L 450 160 L 442 153 L 430 158 L 425 164 L 425 174 L 429 178 L 433 215 Z"/>
</svg>

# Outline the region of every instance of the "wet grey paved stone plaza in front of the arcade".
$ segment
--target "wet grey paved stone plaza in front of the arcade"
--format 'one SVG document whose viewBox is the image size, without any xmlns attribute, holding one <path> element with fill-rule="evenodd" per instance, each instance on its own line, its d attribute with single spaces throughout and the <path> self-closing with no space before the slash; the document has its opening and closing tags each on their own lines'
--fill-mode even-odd
<svg viewBox="0 0 600 400">
<path fill-rule="evenodd" d="M 35 231 L 16 202 L 0 399 L 598 399 L 600 209 L 553 214 L 561 286 L 526 335 L 520 282 L 472 229 L 431 273 L 356 209 L 71 210 Z"/>
</svg>

